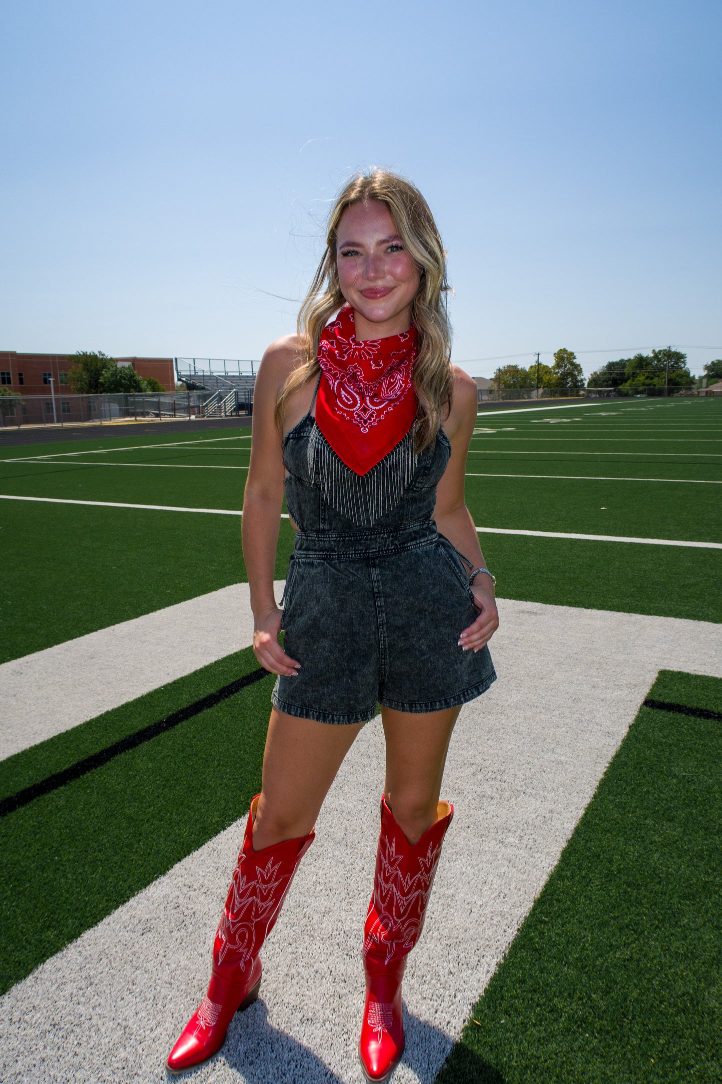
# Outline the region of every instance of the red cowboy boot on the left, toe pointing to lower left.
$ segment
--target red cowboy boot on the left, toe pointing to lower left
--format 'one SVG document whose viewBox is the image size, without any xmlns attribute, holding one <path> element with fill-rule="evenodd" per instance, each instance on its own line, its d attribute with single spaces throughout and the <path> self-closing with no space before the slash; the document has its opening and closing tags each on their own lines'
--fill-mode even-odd
<svg viewBox="0 0 722 1084">
<path fill-rule="evenodd" d="M 168 1056 L 171 1073 L 184 1072 L 211 1058 L 223 1046 L 234 1012 L 248 1008 L 258 997 L 261 946 L 314 840 L 312 831 L 254 851 L 253 820 L 259 797 L 251 802 L 244 846 L 215 933 L 208 993 Z"/>
</svg>

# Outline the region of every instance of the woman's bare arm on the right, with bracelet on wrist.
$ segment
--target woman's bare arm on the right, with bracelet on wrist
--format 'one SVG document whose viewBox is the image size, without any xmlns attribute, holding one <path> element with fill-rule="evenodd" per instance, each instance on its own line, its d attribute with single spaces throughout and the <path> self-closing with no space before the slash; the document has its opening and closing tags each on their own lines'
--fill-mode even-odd
<svg viewBox="0 0 722 1084">
<path fill-rule="evenodd" d="M 486 563 L 478 544 L 478 534 L 464 503 L 464 473 L 469 442 L 476 424 L 476 385 L 471 376 L 455 369 L 454 397 L 444 429 L 451 441 L 451 457 L 436 489 L 434 519 L 442 534 L 464 555 L 473 568 Z M 460 644 L 464 650 L 477 651 L 499 628 L 494 582 L 489 576 L 477 576 L 472 585 L 476 620 L 464 629 Z"/>
</svg>

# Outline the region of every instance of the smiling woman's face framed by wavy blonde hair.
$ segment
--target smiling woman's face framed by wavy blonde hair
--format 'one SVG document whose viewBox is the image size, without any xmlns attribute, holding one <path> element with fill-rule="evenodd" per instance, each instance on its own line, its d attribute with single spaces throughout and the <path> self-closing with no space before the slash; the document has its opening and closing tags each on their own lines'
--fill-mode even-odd
<svg viewBox="0 0 722 1084">
<path fill-rule="evenodd" d="M 352 204 L 336 246 L 341 293 L 354 310 L 356 338 L 399 335 L 411 325 L 421 272 L 380 199 Z"/>
</svg>

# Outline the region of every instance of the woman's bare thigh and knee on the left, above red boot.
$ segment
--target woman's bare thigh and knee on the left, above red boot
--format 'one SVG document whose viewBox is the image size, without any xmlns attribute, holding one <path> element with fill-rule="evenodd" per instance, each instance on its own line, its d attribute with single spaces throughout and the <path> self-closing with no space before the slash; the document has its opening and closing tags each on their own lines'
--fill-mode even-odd
<svg viewBox="0 0 722 1084">
<path fill-rule="evenodd" d="M 333 726 L 272 710 L 253 824 L 254 851 L 309 835 L 363 725 Z"/>
</svg>

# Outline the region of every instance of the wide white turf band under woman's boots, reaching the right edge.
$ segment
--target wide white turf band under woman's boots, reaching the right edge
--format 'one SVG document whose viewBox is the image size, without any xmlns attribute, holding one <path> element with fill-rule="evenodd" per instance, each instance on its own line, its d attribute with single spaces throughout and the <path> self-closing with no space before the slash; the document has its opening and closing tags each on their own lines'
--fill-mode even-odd
<svg viewBox="0 0 722 1084">
<path fill-rule="evenodd" d="M 462 710 L 451 739 L 443 797 L 455 818 L 404 979 L 408 1053 L 394 1084 L 436 1076 L 658 670 L 722 676 L 720 624 L 503 599 L 499 609 L 499 681 Z M 375 721 L 341 766 L 263 951 L 260 1001 L 234 1018 L 223 1053 L 193 1073 L 197 1084 L 360 1080 L 358 956 L 383 777 Z M 168 1050 L 206 991 L 242 828 L 5 994 L 5 1084 L 167 1080 Z"/>
</svg>

